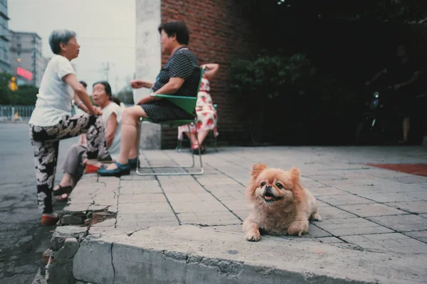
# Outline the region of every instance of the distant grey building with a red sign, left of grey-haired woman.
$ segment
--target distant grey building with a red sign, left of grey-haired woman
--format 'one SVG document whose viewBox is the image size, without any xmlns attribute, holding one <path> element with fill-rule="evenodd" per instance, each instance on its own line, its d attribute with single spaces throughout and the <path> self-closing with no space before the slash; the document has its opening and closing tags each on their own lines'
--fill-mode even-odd
<svg viewBox="0 0 427 284">
<path fill-rule="evenodd" d="M 41 37 L 37 33 L 9 31 L 11 73 L 18 84 L 40 86 L 43 76 Z"/>
</svg>

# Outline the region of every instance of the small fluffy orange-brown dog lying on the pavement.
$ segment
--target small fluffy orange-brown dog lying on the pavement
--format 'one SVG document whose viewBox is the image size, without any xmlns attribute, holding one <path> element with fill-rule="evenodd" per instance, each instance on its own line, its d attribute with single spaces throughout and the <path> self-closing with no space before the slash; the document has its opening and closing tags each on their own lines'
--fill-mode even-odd
<svg viewBox="0 0 427 284">
<path fill-rule="evenodd" d="M 300 184 L 300 170 L 289 172 L 267 165 L 253 165 L 246 194 L 253 212 L 243 222 L 248 241 L 259 241 L 260 230 L 273 235 L 301 236 L 308 220 L 320 221 L 316 199 Z"/>
</svg>

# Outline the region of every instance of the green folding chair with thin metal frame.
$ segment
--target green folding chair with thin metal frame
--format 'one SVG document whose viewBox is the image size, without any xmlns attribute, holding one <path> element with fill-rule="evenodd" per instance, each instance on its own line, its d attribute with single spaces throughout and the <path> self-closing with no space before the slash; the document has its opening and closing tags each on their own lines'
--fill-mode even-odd
<svg viewBox="0 0 427 284">
<path fill-rule="evenodd" d="M 199 79 L 199 86 L 197 87 L 197 92 L 194 97 L 180 97 L 180 96 L 174 96 L 174 95 L 168 95 L 168 94 L 152 94 L 152 97 L 159 97 L 162 99 L 168 99 L 173 104 L 176 104 L 177 107 L 180 107 L 181 109 L 184 109 L 188 114 L 191 114 L 194 116 L 194 109 L 196 109 L 196 102 L 197 102 L 197 94 L 199 94 L 199 88 L 201 84 L 201 79 L 203 77 L 204 73 L 204 67 L 201 69 L 200 72 L 200 79 Z M 194 119 L 177 119 L 172 121 L 163 121 L 162 125 L 167 125 L 169 127 L 178 127 L 186 124 L 195 124 L 197 117 L 194 116 Z M 193 163 L 191 166 L 169 166 L 169 167 L 149 167 L 149 168 L 139 168 L 139 140 L 141 137 L 141 129 L 142 129 L 142 122 L 143 121 L 149 121 L 152 122 L 150 119 L 140 117 L 139 118 L 139 126 L 138 126 L 138 158 L 137 158 L 137 175 L 202 175 L 204 173 L 203 165 L 201 163 L 201 153 L 200 153 L 200 145 L 199 145 L 199 160 L 200 160 L 200 171 L 196 173 L 154 173 L 154 169 L 159 168 L 194 168 L 194 153 L 191 151 L 191 159 L 193 160 Z M 189 126 L 190 131 L 190 126 Z M 197 130 L 196 130 L 197 131 Z M 199 144 L 199 140 L 197 140 L 197 143 Z M 153 173 L 141 173 L 140 169 L 151 169 L 153 170 Z"/>
</svg>

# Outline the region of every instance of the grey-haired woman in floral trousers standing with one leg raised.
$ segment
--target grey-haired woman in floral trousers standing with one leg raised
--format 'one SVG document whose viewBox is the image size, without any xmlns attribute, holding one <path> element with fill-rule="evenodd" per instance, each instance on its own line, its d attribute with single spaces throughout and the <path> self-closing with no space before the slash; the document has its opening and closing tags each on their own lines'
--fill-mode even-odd
<svg viewBox="0 0 427 284">
<path fill-rule="evenodd" d="M 56 224 L 58 215 L 53 213 L 52 190 L 55 179 L 58 147 L 61 139 L 87 133 L 88 164 L 99 165 L 97 154 L 105 148 L 102 111 L 95 109 L 77 77 L 71 60 L 78 57 L 78 45 L 73 31 L 57 30 L 49 36 L 55 53 L 41 79 L 36 108 L 29 121 L 30 139 L 36 164 L 38 211 L 41 224 Z M 88 109 L 89 114 L 71 116 L 74 94 Z"/>
</svg>

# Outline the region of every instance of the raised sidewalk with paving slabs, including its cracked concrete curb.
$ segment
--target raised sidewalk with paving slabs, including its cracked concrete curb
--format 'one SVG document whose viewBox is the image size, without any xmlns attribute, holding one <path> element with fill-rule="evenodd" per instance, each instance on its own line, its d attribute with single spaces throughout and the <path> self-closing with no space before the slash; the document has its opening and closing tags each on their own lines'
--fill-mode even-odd
<svg viewBox="0 0 427 284">
<path fill-rule="evenodd" d="M 189 163 L 190 155 L 175 151 L 145 151 L 140 159 L 142 165 L 185 165 Z M 310 279 L 425 283 L 427 178 L 366 164 L 427 163 L 426 147 L 221 148 L 218 153 L 203 155 L 203 160 L 206 171 L 199 176 L 139 177 L 132 173 L 122 178 L 98 178 L 96 175 L 86 175 L 78 183 L 64 209 L 64 214 L 68 216 L 63 218 L 63 223 L 67 224 L 67 220 L 74 220 L 74 217 L 83 217 L 86 219 L 85 224 L 93 224 L 85 232 L 88 236 L 78 238 L 79 241 L 86 241 L 80 244 L 75 255 L 73 277 L 91 283 L 109 283 L 107 275 L 114 272 L 111 275 L 114 283 L 168 282 L 157 279 L 160 276 L 152 268 L 154 259 L 150 258 L 149 261 L 151 270 L 145 271 L 144 275 L 149 275 L 147 278 L 140 272 L 141 269 L 148 269 L 145 267 L 148 262 L 129 264 L 129 267 L 126 262 L 115 263 L 113 244 L 121 244 L 128 248 L 130 256 L 127 260 L 130 262 L 142 257 L 137 254 L 140 249 L 174 251 L 176 248 L 177 252 L 186 253 L 186 264 L 189 264 L 189 256 L 217 261 L 224 258 L 236 263 L 243 262 L 245 265 L 249 263 L 251 269 L 255 267 L 255 271 L 258 269 L 256 267 L 263 267 L 262 264 L 265 263 L 265 266 L 271 265 L 270 269 L 273 271 L 296 273 L 293 276 L 279 273 L 282 278 L 276 276 L 280 283 L 283 277 L 294 279 L 296 282 L 293 283 L 303 283 Z M 265 236 L 259 243 L 245 241 L 241 223 L 248 216 L 250 208 L 246 204 L 244 191 L 253 163 L 266 163 L 270 167 L 285 170 L 292 165 L 300 168 L 302 185 L 317 197 L 322 222 L 312 222 L 309 234 L 302 238 Z M 99 222 L 102 220 L 104 221 Z M 76 222 L 79 224 L 78 220 Z M 171 230 L 176 231 L 179 243 L 172 240 L 174 234 L 170 234 Z M 154 241 L 157 244 L 144 241 L 153 236 L 158 236 L 158 240 L 162 241 Z M 165 236 L 172 239 L 164 239 Z M 204 242 L 200 242 L 201 239 Z M 233 243 L 229 243 L 231 239 Z M 111 246 L 106 251 L 102 249 L 105 242 Z M 236 253 L 228 253 L 228 258 L 223 256 L 218 251 L 221 249 L 221 242 L 224 248 L 230 246 L 228 251 Z M 197 247 L 203 243 L 203 249 Z M 268 248 L 265 247 L 267 244 L 270 244 Z M 275 246 L 273 251 L 270 251 L 271 244 Z M 233 246 L 240 249 L 232 249 Z M 108 259 L 108 263 L 104 263 L 105 271 L 102 272 L 105 273 L 100 273 L 105 278 L 100 278 L 99 274 L 91 274 L 88 270 L 88 259 L 91 258 L 88 248 L 90 252 L 104 250 L 107 254 L 103 256 Z M 249 255 L 242 258 L 245 255 L 243 251 L 247 249 L 253 251 L 251 256 L 257 256 L 254 259 L 258 263 L 251 263 Z M 206 254 L 206 251 L 209 253 Z M 217 255 L 215 251 L 218 251 Z M 323 257 L 320 251 L 323 251 Z M 292 260 L 293 255 L 298 256 L 296 262 Z M 280 257 L 279 262 L 274 261 L 275 256 Z M 120 260 L 120 256 L 117 257 L 115 259 Z M 290 258 L 289 261 L 286 258 Z M 317 262 L 313 262 L 315 258 L 318 258 Z M 158 259 L 156 261 L 162 262 Z M 248 273 L 248 268 L 241 268 L 244 273 L 237 273 L 237 276 L 232 277 L 234 274 L 228 271 L 228 266 L 234 267 L 233 265 L 228 263 L 228 268 L 225 269 L 227 274 L 217 264 L 214 265 L 217 273 L 212 274 L 212 277 L 217 275 L 218 279 L 226 277 L 223 278 L 226 280 L 205 282 L 207 280 L 189 278 L 187 271 L 183 283 L 197 283 L 194 279 L 201 281 L 198 283 L 244 283 L 248 279 L 257 283 L 254 280 L 257 273 L 251 276 L 253 278 L 245 278 L 251 274 Z M 103 267 L 102 263 L 96 263 L 96 267 Z M 139 270 L 135 270 L 136 267 Z M 159 264 L 160 268 L 163 269 L 160 272 L 164 273 L 164 269 L 172 270 L 173 267 L 163 263 Z M 363 273 L 355 271 L 356 268 Z M 147 282 L 132 282 L 132 271 Z M 266 276 L 267 279 L 276 277 L 273 277 L 271 271 L 268 275 L 271 277 Z M 174 274 L 167 279 L 175 281 L 176 277 L 178 276 Z M 176 283 L 181 282 L 176 280 Z"/>
</svg>

